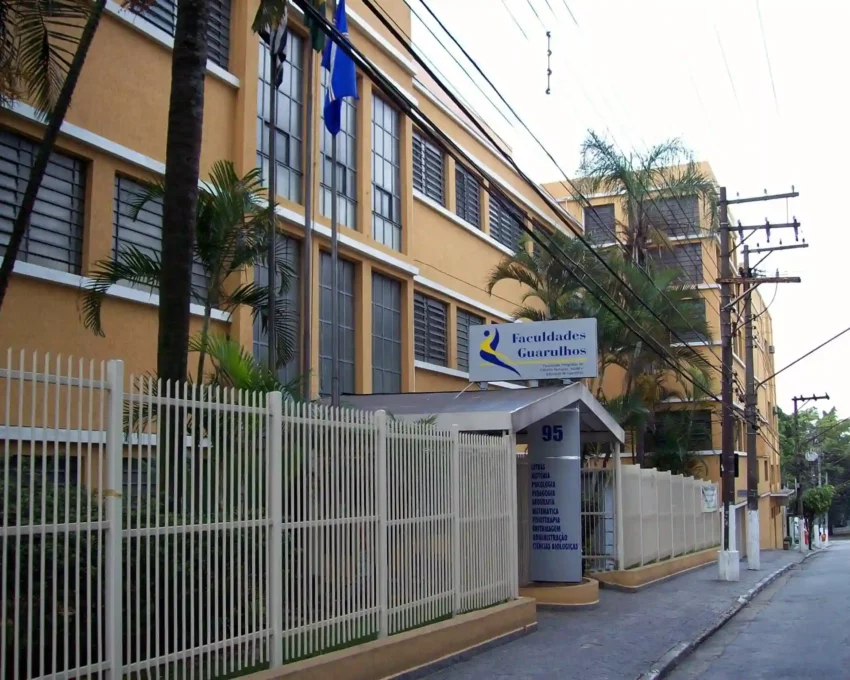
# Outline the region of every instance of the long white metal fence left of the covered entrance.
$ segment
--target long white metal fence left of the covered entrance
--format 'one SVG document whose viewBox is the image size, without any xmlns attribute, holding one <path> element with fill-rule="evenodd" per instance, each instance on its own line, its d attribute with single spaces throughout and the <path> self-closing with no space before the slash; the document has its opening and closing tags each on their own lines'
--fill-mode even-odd
<svg viewBox="0 0 850 680">
<path fill-rule="evenodd" d="M 215 678 L 517 594 L 509 438 L 6 359 L 3 678 Z"/>
</svg>

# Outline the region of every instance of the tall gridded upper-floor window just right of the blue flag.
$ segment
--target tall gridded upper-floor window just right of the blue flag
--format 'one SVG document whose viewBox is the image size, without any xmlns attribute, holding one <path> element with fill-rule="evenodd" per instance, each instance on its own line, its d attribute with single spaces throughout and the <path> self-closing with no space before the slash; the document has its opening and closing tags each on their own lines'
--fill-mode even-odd
<svg viewBox="0 0 850 680">
<path fill-rule="evenodd" d="M 401 174 L 398 112 L 380 97 L 372 103 L 372 238 L 401 250 Z"/>
</svg>

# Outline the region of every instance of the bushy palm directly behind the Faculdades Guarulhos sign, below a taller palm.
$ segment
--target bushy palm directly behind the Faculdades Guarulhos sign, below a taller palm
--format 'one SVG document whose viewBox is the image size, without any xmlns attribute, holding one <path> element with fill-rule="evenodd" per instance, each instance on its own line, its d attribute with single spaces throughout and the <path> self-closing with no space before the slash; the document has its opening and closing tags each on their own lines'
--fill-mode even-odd
<svg viewBox="0 0 850 680">
<path fill-rule="evenodd" d="M 685 374 L 697 375 L 705 383 L 709 381 L 711 367 L 707 360 L 681 346 L 676 338 L 696 332 L 708 339 L 710 332 L 705 318 L 691 304 L 693 292 L 676 283 L 680 272 L 652 268 L 642 271 L 619 251 L 600 253 L 616 273 L 614 276 L 578 239 L 561 233 L 550 238 L 554 257 L 548 252 L 529 253 L 520 248 L 493 269 L 487 290 L 492 293 L 503 280 L 523 284 L 522 304 L 514 310 L 515 319 L 595 318 L 599 375 L 591 381 L 590 388 L 623 427 L 637 432 L 636 440 L 640 441 L 656 406 L 670 396 L 678 396 L 677 390 L 682 388 L 681 380 L 684 380 L 679 377 L 678 383 L 670 384 L 669 366 L 660 355 L 669 357 Z M 573 271 L 565 266 L 567 257 L 580 268 Z M 600 292 L 600 288 L 605 292 Z M 609 304 L 613 300 L 621 311 L 612 313 L 597 294 Z M 633 319 L 643 337 L 623 324 L 618 316 Z M 650 341 L 650 347 L 644 338 Z M 606 369 L 611 366 L 622 368 L 625 378 L 620 396 L 609 398 L 602 386 Z M 642 455 L 642 445 L 637 453 Z"/>
</svg>

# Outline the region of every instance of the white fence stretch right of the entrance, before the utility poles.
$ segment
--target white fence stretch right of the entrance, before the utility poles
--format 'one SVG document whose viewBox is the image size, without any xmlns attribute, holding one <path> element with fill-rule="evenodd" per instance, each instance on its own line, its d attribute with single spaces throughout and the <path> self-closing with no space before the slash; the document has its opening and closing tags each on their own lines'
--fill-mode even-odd
<svg viewBox="0 0 850 680">
<path fill-rule="evenodd" d="M 721 519 L 703 512 L 702 489 L 693 477 L 623 465 L 622 568 L 680 557 L 720 544 Z"/>
</svg>

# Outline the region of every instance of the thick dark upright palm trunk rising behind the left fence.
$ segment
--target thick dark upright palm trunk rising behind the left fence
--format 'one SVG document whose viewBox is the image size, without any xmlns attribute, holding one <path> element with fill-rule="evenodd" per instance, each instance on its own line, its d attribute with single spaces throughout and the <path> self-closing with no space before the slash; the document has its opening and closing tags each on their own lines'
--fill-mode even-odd
<svg viewBox="0 0 850 680">
<path fill-rule="evenodd" d="M 171 57 L 162 202 L 157 371 L 163 380 L 186 380 L 189 361 L 189 305 L 204 124 L 206 33 L 206 0 L 179 0 Z"/>
</svg>

